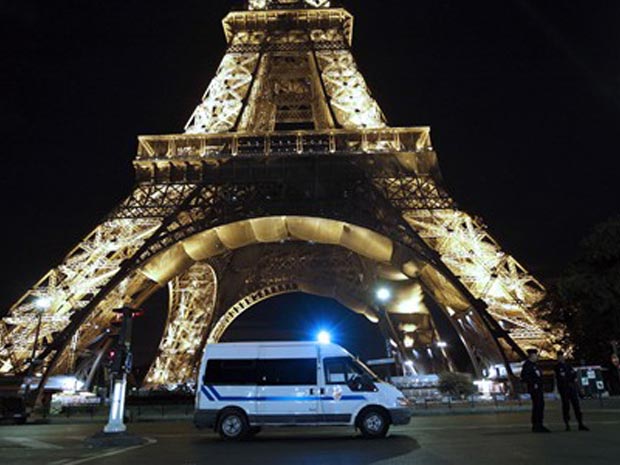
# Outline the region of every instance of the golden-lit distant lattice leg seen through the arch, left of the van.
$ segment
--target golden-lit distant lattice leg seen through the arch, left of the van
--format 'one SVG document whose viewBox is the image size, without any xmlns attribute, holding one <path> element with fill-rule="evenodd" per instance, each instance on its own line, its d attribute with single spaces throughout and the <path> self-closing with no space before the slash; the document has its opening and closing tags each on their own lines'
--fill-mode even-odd
<svg viewBox="0 0 620 465">
<path fill-rule="evenodd" d="M 213 318 L 216 276 L 204 262 L 196 263 L 168 285 L 168 323 L 155 363 L 146 376 L 149 385 L 178 385 L 196 378 L 201 349 Z"/>
</svg>

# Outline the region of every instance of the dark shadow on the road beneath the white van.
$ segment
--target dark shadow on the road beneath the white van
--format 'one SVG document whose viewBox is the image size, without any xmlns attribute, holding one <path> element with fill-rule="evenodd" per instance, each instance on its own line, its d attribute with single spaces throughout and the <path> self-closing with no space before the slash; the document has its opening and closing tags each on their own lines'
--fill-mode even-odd
<svg viewBox="0 0 620 465">
<path fill-rule="evenodd" d="M 246 464 L 248 458 L 264 458 L 269 465 L 312 464 L 312 465 L 370 465 L 382 460 L 406 455 L 420 448 L 412 437 L 390 435 L 385 439 L 368 440 L 360 436 L 328 435 L 260 435 L 251 441 L 237 443 L 207 439 L 209 454 L 213 463 L 222 454 L 221 463 L 227 465 Z M 205 441 L 200 441 L 204 445 Z M 198 444 L 196 444 L 198 445 Z M 277 451 L 277 452 L 276 452 Z M 274 453 L 275 452 L 275 453 Z"/>
</svg>

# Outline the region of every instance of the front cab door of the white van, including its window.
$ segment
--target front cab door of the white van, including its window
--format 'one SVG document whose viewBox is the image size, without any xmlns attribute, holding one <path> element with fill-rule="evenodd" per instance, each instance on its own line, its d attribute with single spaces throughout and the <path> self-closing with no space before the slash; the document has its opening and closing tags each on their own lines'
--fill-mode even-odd
<svg viewBox="0 0 620 465">
<path fill-rule="evenodd" d="M 322 362 L 321 409 L 325 422 L 350 423 L 352 415 L 369 402 L 377 389 L 351 357 L 326 357 Z"/>
</svg>

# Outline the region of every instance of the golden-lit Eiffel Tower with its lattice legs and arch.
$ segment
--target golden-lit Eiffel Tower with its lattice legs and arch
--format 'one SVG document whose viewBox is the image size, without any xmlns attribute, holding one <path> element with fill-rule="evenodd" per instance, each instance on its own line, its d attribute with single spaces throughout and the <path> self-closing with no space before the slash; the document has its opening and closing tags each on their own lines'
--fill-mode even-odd
<svg viewBox="0 0 620 465">
<path fill-rule="evenodd" d="M 290 292 L 380 324 L 419 372 L 510 373 L 525 347 L 552 353 L 532 312 L 543 286 L 450 197 L 430 129 L 387 124 L 349 12 L 250 0 L 223 25 L 226 54 L 185 132 L 139 137 L 134 191 L 2 319 L 0 374 L 92 374 L 113 310 L 162 288 L 152 386 L 192 380 L 205 344 Z"/>
</svg>

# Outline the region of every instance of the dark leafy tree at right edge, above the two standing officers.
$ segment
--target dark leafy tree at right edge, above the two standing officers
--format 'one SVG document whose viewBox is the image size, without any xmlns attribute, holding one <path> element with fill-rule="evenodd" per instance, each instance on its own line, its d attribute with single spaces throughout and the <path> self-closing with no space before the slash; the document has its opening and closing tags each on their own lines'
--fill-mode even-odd
<svg viewBox="0 0 620 465">
<path fill-rule="evenodd" d="M 602 363 L 620 340 L 620 216 L 582 241 L 578 258 L 544 301 L 541 316 L 566 327 L 576 358 Z"/>
</svg>

